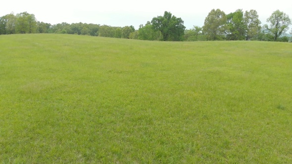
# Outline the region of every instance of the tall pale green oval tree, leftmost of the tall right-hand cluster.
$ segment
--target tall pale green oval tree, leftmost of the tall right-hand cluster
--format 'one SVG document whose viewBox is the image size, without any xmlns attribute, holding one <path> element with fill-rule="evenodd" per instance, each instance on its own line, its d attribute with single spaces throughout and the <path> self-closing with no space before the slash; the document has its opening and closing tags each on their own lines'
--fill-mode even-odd
<svg viewBox="0 0 292 164">
<path fill-rule="evenodd" d="M 205 18 L 203 34 L 207 40 L 223 40 L 225 38 L 227 26 L 226 14 L 220 9 L 212 9 Z"/>
</svg>

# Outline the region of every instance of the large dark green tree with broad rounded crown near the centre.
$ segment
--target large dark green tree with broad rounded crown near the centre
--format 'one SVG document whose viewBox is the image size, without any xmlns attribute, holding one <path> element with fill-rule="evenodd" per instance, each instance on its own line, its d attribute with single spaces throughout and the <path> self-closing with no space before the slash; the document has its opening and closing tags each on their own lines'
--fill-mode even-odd
<svg viewBox="0 0 292 164">
<path fill-rule="evenodd" d="M 181 18 L 165 11 L 163 16 L 154 17 L 151 24 L 155 31 L 161 33 L 163 41 L 182 41 L 186 27 Z"/>
</svg>

